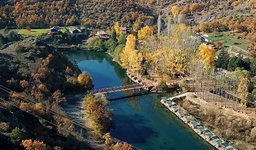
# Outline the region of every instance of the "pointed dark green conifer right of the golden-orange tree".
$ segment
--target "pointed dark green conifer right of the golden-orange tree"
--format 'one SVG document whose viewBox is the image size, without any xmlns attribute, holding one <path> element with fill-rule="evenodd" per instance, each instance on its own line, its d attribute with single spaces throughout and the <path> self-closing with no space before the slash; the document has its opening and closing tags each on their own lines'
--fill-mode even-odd
<svg viewBox="0 0 256 150">
<path fill-rule="evenodd" d="M 226 50 L 220 50 L 220 54 L 218 55 L 218 59 L 216 61 L 216 66 L 220 68 L 228 68 L 228 62 L 229 62 L 229 54 Z"/>
</svg>

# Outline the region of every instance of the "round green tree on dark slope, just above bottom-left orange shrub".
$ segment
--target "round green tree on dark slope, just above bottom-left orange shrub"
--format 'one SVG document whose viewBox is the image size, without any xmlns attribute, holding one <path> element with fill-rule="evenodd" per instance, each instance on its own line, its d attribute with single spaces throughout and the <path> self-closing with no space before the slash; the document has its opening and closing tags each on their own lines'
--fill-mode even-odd
<svg viewBox="0 0 256 150">
<path fill-rule="evenodd" d="M 29 135 L 26 133 L 24 129 L 19 129 L 16 127 L 9 134 L 10 141 L 14 145 L 19 145 L 22 140 L 26 140 L 29 138 Z"/>
</svg>

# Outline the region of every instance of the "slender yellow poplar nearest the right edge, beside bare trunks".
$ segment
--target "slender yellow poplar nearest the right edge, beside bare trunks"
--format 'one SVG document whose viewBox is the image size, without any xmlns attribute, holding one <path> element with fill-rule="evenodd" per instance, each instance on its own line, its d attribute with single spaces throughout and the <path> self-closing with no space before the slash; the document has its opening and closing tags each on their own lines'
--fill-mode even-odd
<svg viewBox="0 0 256 150">
<path fill-rule="evenodd" d="M 250 81 L 248 80 L 248 78 L 242 78 L 238 86 L 238 93 L 241 98 L 241 102 L 240 102 L 241 112 L 243 112 L 243 109 L 246 108 L 246 100 L 248 96 L 249 84 L 250 84 Z"/>
</svg>

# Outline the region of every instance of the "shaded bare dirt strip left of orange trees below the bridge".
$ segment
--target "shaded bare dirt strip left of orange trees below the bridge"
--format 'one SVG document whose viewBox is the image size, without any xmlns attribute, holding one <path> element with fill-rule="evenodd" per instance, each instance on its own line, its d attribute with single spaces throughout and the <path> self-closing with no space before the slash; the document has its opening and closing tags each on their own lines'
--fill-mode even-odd
<svg viewBox="0 0 256 150">
<path fill-rule="evenodd" d="M 84 110 L 82 108 L 82 98 L 83 95 L 68 95 L 66 96 L 67 101 L 62 103 L 62 108 L 66 111 L 70 118 L 79 122 L 75 122 L 76 124 L 79 124 L 86 128 L 91 128 L 91 121 L 90 119 L 85 117 Z M 84 138 L 101 145 L 99 141 L 94 136 L 92 136 L 89 130 L 82 128 L 81 126 L 75 125 L 76 131 L 78 131 L 79 133 L 82 131 Z M 96 150 L 104 150 L 104 148 L 93 144 L 92 142 L 87 142 L 90 147 Z"/>
</svg>

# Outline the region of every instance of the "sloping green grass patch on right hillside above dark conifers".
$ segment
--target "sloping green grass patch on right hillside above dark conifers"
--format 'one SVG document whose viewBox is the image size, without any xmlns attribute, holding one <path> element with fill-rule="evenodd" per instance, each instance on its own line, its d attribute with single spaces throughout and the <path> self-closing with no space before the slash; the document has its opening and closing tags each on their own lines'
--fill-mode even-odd
<svg viewBox="0 0 256 150">
<path fill-rule="evenodd" d="M 206 33 L 209 37 L 205 37 L 208 40 L 212 40 L 212 33 Z M 239 48 L 242 48 L 243 50 L 246 50 L 246 46 L 249 46 L 250 44 L 247 42 L 245 39 L 237 39 L 236 36 L 239 34 L 236 33 L 231 33 L 231 31 L 226 31 L 226 32 L 217 32 L 214 33 L 214 38 L 213 42 L 215 43 L 216 41 L 221 41 L 223 42 L 223 46 L 237 46 Z M 238 44 L 235 44 L 238 43 Z"/>
</svg>

